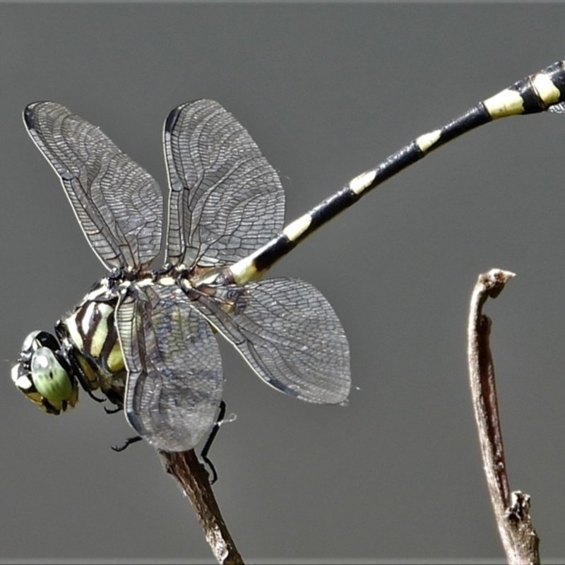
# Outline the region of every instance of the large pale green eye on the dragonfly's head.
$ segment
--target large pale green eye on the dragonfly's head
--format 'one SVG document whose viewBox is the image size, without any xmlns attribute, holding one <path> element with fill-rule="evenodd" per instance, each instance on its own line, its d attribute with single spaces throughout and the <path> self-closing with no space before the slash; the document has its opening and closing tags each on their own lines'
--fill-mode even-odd
<svg viewBox="0 0 565 565">
<path fill-rule="evenodd" d="M 57 409 L 76 403 L 76 386 L 48 347 L 39 347 L 31 359 L 31 379 L 37 392 Z"/>
</svg>

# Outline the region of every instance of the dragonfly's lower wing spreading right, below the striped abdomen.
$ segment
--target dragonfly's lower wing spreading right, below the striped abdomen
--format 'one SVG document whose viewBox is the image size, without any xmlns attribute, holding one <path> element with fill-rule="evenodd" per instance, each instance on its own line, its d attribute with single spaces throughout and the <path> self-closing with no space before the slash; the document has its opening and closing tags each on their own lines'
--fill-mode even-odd
<svg viewBox="0 0 565 565">
<path fill-rule="evenodd" d="M 234 295 L 241 290 L 234 287 Z M 351 386 L 345 331 L 330 303 L 303 280 L 245 285 L 234 309 L 208 297 L 196 307 L 232 342 L 258 376 L 302 400 L 341 403 Z"/>
</svg>

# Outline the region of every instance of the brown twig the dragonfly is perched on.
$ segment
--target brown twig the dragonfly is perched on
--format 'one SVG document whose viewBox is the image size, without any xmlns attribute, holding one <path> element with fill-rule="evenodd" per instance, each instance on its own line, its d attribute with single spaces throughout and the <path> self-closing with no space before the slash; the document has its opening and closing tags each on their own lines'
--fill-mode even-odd
<svg viewBox="0 0 565 565">
<path fill-rule="evenodd" d="M 198 516 L 206 540 L 214 557 L 222 565 L 243 565 L 230 532 L 227 530 L 212 487 L 208 472 L 198 460 L 194 449 L 174 453 L 159 451 L 165 460 L 165 468 L 181 485 Z"/>
</svg>

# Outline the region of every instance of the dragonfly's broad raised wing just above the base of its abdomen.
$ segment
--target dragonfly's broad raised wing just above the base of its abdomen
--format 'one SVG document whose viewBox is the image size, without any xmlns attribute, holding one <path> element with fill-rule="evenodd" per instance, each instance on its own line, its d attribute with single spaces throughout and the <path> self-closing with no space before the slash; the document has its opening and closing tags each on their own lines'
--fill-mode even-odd
<svg viewBox="0 0 565 565">
<path fill-rule="evenodd" d="M 227 265 L 274 237 L 285 217 L 277 172 L 232 114 L 213 100 L 165 121 L 169 174 L 167 261 Z"/>
</svg>

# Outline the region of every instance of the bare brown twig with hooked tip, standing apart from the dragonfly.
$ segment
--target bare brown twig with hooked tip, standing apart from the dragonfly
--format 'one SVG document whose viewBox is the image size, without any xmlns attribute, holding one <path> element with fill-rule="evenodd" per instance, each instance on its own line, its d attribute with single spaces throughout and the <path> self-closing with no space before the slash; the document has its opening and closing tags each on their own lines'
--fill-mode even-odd
<svg viewBox="0 0 565 565">
<path fill-rule="evenodd" d="M 539 564 L 540 540 L 530 520 L 530 496 L 510 492 L 489 344 L 492 321 L 482 314 L 487 298 L 496 298 L 513 276 L 499 269 L 479 275 L 469 314 L 469 375 L 484 472 L 506 558 L 510 564 Z"/>
</svg>

